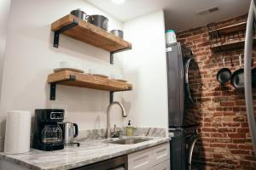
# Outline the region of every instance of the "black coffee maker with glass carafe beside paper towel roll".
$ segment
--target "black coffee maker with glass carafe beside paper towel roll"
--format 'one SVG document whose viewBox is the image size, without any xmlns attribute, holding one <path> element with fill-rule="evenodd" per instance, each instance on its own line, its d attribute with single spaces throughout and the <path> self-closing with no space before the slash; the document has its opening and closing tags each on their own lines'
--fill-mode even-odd
<svg viewBox="0 0 256 170">
<path fill-rule="evenodd" d="M 35 110 L 36 131 L 33 137 L 33 148 L 45 151 L 62 150 L 64 148 L 64 141 L 59 124 L 63 120 L 64 110 Z"/>
</svg>

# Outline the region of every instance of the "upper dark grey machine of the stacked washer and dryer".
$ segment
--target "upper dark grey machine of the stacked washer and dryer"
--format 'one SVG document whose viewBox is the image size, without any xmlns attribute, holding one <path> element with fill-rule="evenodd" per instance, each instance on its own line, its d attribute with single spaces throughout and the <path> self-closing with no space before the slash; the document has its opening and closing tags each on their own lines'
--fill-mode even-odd
<svg viewBox="0 0 256 170">
<path fill-rule="evenodd" d="M 195 127 L 199 116 L 185 111 L 186 105 L 195 103 L 189 89 L 189 71 L 195 67 L 192 51 L 175 42 L 166 47 L 166 59 L 169 128 Z"/>
</svg>

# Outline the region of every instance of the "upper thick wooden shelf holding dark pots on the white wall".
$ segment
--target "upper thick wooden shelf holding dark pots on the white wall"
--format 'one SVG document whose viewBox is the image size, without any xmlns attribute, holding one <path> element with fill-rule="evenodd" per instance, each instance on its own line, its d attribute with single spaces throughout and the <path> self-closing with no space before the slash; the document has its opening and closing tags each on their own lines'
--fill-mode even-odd
<svg viewBox="0 0 256 170">
<path fill-rule="evenodd" d="M 78 26 L 67 29 L 67 31 L 63 31 L 62 34 L 68 37 L 73 37 L 81 42 L 89 43 L 97 48 L 105 49 L 109 52 L 131 49 L 130 42 L 126 42 L 122 38 L 116 37 L 100 27 L 94 26 L 84 20 L 80 20 L 72 14 L 67 14 L 60 20 L 56 20 L 51 25 L 51 30 L 58 31 L 64 26 L 72 24 L 74 20 L 78 21 Z"/>
</svg>

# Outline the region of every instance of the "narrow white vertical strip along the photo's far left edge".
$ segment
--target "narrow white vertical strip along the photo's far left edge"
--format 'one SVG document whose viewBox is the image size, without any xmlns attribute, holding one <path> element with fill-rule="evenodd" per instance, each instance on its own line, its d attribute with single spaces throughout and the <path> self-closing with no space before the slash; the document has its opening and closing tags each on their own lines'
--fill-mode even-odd
<svg viewBox="0 0 256 170">
<path fill-rule="evenodd" d="M 9 6 L 10 6 L 10 0 L 0 1 L 0 96 L 1 96 L 2 78 L 3 78 L 3 55 L 5 51 L 5 44 L 6 44 L 6 31 L 9 23 L 8 22 Z"/>
</svg>

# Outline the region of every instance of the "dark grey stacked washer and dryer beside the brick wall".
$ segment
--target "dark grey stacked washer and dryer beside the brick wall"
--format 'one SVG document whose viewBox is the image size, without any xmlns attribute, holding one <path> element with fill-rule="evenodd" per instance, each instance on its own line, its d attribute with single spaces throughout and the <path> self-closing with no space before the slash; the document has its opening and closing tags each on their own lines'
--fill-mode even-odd
<svg viewBox="0 0 256 170">
<path fill-rule="evenodd" d="M 189 71 L 195 70 L 198 65 L 192 57 L 192 51 L 182 46 L 180 42 L 166 46 L 172 170 L 191 169 L 195 142 L 199 139 L 197 126 L 200 116 L 195 112 L 186 111 L 188 105 L 195 105 L 195 99 L 189 88 Z"/>
</svg>

